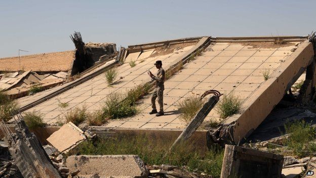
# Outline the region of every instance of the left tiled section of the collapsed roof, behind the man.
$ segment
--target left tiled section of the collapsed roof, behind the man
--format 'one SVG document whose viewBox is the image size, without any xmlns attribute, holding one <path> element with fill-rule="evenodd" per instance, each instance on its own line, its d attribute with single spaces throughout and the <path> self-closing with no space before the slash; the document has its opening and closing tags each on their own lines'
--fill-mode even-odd
<svg viewBox="0 0 316 178">
<path fill-rule="evenodd" d="M 207 38 L 203 39 L 205 42 Z M 185 41 L 185 43 L 183 43 Z M 119 82 L 114 83 L 111 87 L 106 83 L 104 75 L 98 73 L 98 75 L 90 76 L 83 83 L 78 83 L 76 86 L 67 86 L 67 90 L 62 93 L 54 95 L 54 97 L 48 99 L 43 96 L 42 102 L 32 101 L 25 102 L 26 105 L 20 103 L 20 107 L 24 112 L 38 111 L 44 116 L 44 121 L 48 124 L 56 124 L 58 116 L 62 116 L 63 113 L 75 108 L 86 106 L 88 111 L 96 111 L 101 109 L 103 101 L 107 96 L 114 92 L 124 92 L 131 88 L 134 88 L 140 84 L 150 81 L 146 72 L 149 68 L 154 71 L 154 61 L 160 59 L 163 61 L 165 68 L 173 65 L 174 62 L 178 62 L 181 56 L 190 53 L 190 50 L 195 46 L 200 46 L 199 42 L 201 38 L 189 39 L 176 42 L 177 44 L 170 45 L 167 49 L 161 49 L 153 47 L 151 54 L 148 56 L 148 52 L 135 52 L 127 55 L 123 64 L 116 66 Z M 171 50 L 170 50 L 171 49 Z M 146 57 L 144 57 L 146 55 Z M 135 60 L 137 65 L 131 67 L 129 62 Z M 116 62 L 118 62 L 116 60 Z M 110 65 L 110 61 L 109 61 Z M 109 68 L 109 65 L 104 65 L 103 68 Z M 102 67 L 101 67 L 102 68 Z M 48 99 L 48 100 L 46 100 Z M 45 102 L 43 102 L 45 101 Z M 37 103 L 36 103 L 37 102 Z M 68 102 L 69 106 L 66 109 L 59 107 L 60 102 Z M 36 105 L 35 105 L 36 104 Z"/>
</svg>

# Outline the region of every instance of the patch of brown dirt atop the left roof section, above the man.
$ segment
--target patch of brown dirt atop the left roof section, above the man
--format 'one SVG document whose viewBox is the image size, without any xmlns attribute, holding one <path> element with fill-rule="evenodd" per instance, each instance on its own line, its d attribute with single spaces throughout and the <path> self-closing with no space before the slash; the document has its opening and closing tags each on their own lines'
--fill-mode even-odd
<svg viewBox="0 0 316 178">
<path fill-rule="evenodd" d="M 163 55 L 171 54 L 175 50 L 180 50 L 180 49 L 183 49 L 184 47 L 192 46 L 195 44 L 196 44 L 196 42 L 180 43 L 180 44 L 175 44 L 175 45 L 170 45 L 170 46 L 157 47 L 157 48 L 155 48 L 155 50 L 153 51 L 153 53 L 149 57 L 156 57 L 156 56 L 163 56 Z"/>
</svg>

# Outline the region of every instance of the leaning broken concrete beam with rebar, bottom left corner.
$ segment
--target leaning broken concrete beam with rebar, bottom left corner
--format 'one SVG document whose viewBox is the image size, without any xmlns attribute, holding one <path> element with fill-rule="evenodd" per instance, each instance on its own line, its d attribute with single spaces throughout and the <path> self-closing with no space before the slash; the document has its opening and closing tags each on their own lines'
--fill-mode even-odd
<svg viewBox="0 0 316 178">
<path fill-rule="evenodd" d="M 17 117 L 17 119 L 15 118 L 15 133 L 12 133 L 4 123 L 1 124 L 1 130 L 5 133 L 5 139 L 9 144 L 9 152 L 23 177 L 60 177 L 41 143 L 28 130 L 22 116 L 17 115 Z"/>
</svg>

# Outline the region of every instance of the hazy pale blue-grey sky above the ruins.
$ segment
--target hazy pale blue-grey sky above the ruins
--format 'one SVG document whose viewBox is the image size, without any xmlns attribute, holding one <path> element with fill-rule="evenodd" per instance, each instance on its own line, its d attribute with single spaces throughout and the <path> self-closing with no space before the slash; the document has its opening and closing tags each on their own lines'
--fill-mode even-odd
<svg viewBox="0 0 316 178">
<path fill-rule="evenodd" d="M 316 1 L 0 1 L 0 57 L 74 49 L 69 35 L 117 47 L 212 35 L 307 35 Z"/>
</svg>

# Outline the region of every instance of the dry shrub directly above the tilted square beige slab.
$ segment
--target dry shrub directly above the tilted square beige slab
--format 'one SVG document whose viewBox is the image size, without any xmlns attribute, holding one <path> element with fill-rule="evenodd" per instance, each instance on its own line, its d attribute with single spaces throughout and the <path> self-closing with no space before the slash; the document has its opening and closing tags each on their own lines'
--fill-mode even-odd
<svg viewBox="0 0 316 178">
<path fill-rule="evenodd" d="M 87 109 L 85 106 L 83 106 L 82 109 L 76 107 L 69 110 L 64 116 L 67 122 L 72 122 L 74 125 L 77 126 L 86 120 Z"/>
</svg>

